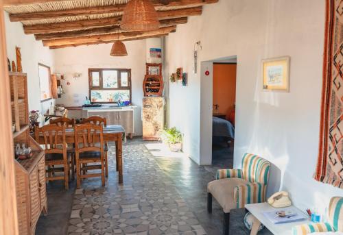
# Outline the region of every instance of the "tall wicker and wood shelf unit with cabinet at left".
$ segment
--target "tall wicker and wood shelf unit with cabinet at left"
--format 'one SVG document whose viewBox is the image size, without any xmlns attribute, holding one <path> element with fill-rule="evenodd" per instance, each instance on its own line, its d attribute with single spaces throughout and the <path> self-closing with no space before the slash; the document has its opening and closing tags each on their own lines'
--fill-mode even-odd
<svg viewBox="0 0 343 235">
<path fill-rule="evenodd" d="M 19 234 L 34 234 L 40 213 L 47 213 L 47 191 L 45 183 L 45 153 L 29 135 L 29 110 L 27 100 L 27 75 L 10 73 L 12 99 L 12 121 L 14 146 L 25 143 L 31 147 L 33 156 L 26 160 L 15 160 L 16 201 Z"/>
</svg>

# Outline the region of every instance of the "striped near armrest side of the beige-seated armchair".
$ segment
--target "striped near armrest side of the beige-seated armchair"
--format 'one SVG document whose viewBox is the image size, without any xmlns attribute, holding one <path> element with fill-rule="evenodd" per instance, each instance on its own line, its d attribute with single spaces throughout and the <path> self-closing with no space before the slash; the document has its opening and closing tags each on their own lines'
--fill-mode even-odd
<svg viewBox="0 0 343 235">
<path fill-rule="evenodd" d="M 233 198 L 237 208 L 244 208 L 246 204 L 265 201 L 267 186 L 261 183 L 239 184 L 235 187 Z"/>
</svg>

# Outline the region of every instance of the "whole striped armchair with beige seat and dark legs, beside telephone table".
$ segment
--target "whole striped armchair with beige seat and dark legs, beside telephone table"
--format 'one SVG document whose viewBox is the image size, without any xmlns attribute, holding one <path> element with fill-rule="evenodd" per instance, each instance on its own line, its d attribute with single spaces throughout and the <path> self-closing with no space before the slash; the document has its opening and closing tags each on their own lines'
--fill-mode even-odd
<svg viewBox="0 0 343 235">
<path fill-rule="evenodd" d="M 228 234 L 229 212 L 249 203 L 265 201 L 270 162 L 251 153 L 244 154 L 241 169 L 218 170 L 216 180 L 207 186 L 207 210 L 212 212 L 212 197 L 224 211 L 224 234 Z"/>
</svg>

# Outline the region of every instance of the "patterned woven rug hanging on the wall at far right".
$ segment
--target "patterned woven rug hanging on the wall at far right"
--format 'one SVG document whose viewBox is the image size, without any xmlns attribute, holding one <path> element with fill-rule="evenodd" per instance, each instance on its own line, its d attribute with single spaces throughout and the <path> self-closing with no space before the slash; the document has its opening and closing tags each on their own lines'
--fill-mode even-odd
<svg viewBox="0 0 343 235">
<path fill-rule="evenodd" d="M 327 0 L 319 156 L 315 179 L 343 188 L 343 2 Z"/>
</svg>

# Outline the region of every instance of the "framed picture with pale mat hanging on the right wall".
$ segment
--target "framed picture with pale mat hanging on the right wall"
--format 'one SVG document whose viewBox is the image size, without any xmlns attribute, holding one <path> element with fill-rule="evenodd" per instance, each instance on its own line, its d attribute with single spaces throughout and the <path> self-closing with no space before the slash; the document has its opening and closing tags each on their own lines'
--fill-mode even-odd
<svg viewBox="0 0 343 235">
<path fill-rule="evenodd" d="M 289 92 L 289 56 L 262 60 L 263 90 Z"/>
</svg>

